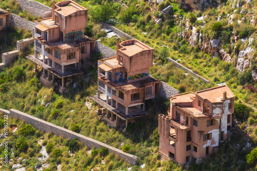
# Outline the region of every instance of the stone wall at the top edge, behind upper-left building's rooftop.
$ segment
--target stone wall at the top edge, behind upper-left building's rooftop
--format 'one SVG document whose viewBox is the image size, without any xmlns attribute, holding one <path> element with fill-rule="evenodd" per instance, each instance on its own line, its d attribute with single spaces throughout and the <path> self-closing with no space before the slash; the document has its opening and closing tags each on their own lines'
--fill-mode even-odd
<svg viewBox="0 0 257 171">
<path fill-rule="evenodd" d="M 52 16 L 51 8 L 45 6 L 44 4 L 41 4 L 36 1 L 30 1 L 30 0 L 15 0 L 16 2 L 19 2 L 21 4 L 21 8 L 24 11 L 28 11 L 30 14 L 42 18 L 48 18 Z"/>
</svg>

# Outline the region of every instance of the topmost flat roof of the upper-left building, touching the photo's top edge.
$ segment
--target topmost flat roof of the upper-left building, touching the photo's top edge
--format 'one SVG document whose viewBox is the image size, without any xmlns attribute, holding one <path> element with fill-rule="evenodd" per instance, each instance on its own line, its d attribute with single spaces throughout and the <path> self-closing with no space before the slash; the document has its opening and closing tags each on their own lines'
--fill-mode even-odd
<svg viewBox="0 0 257 171">
<path fill-rule="evenodd" d="M 86 8 L 82 7 L 81 5 L 73 2 L 73 1 L 61 1 L 56 4 L 57 8 L 54 11 L 57 11 L 58 13 L 67 16 L 72 13 L 75 13 L 79 10 L 87 10 Z"/>
</svg>

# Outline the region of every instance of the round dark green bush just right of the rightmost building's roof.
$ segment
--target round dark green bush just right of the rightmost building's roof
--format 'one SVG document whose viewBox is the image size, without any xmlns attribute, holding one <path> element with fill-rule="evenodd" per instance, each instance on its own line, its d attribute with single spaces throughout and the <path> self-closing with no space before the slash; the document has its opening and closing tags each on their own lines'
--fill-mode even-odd
<svg viewBox="0 0 257 171">
<path fill-rule="evenodd" d="M 245 122 L 250 116 L 250 111 L 252 111 L 252 108 L 241 103 L 235 103 L 233 115 L 235 119 Z"/>
</svg>

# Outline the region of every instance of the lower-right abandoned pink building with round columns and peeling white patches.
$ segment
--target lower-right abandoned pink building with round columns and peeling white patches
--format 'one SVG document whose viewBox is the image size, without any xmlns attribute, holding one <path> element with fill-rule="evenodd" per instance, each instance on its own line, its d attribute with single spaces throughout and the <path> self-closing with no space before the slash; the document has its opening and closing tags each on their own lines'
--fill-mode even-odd
<svg viewBox="0 0 257 171">
<path fill-rule="evenodd" d="M 227 139 L 233 112 L 226 85 L 171 97 L 168 116 L 159 115 L 159 153 L 180 164 L 201 162 Z"/>
</svg>

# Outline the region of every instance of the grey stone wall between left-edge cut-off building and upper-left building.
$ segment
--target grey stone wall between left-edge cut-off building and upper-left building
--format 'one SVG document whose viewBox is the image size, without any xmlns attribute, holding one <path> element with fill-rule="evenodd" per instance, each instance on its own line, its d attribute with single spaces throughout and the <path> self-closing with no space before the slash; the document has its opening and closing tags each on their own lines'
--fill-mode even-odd
<svg viewBox="0 0 257 171">
<path fill-rule="evenodd" d="M 19 15 L 11 13 L 10 25 L 18 29 L 24 28 L 25 30 L 30 30 L 32 33 L 32 37 L 34 36 L 34 23 L 25 20 Z"/>
</svg>

